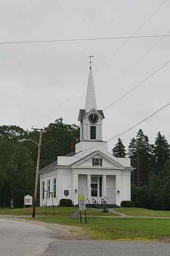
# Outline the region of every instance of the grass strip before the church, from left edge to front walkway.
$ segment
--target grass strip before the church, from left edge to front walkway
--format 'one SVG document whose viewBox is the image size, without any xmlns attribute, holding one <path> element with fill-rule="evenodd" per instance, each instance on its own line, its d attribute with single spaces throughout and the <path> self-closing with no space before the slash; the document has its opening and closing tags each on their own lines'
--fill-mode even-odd
<svg viewBox="0 0 170 256">
<path fill-rule="evenodd" d="M 56 216 L 68 216 L 70 217 L 71 211 L 79 211 L 78 207 L 54 207 Z M 36 215 L 45 215 L 46 208 L 40 207 L 36 208 Z M 118 216 L 116 213 L 108 212 L 103 213 L 102 210 L 87 209 L 87 214 L 89 216 Z M 32 215 L 32 208 L 16 208 L 7 209 L 0 208 L 0 215 Z M 53 207 L 47 207 L 47 215 L 53 215 Z"/>
</svg>

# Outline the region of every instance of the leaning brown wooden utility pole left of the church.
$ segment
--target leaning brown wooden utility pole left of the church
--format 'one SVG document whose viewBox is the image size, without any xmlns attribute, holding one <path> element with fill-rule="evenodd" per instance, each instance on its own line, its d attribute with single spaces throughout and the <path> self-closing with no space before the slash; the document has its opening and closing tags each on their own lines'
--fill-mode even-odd
<svg viewBox="0 0 170 256">
<path fill-rule="evenodd" d="M 35 214 L 36 214 L 37 188 L 38 188 L 38 172 L 39 172 L 41 139 L 42 139 L 42 135 L 43 135 L 43 129 L 39 129 L 39 128 L 31 128 L 31 129 L 32 130 L 40 130 L 39 144 L 38 144 L 38 155 L 37 155 L 36 181 L 35 181 L 35 191 L 34 191 L 34 196 L 33 196 L 33 210 L 32 210 L 32 218 L 34 218 Z"/>
</svg>

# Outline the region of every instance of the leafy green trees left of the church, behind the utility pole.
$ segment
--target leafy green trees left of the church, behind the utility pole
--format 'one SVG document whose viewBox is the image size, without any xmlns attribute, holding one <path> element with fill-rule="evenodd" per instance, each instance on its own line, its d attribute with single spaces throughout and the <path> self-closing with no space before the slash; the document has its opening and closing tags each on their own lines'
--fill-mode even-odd
<svg viewBox="0 0 170 256">
<path fill-rule="evenodd" d="M 79 142 L 79 127 L 57 119 L 44 127 L 40 169 L 71 151 Z M 39 131 L 19 126 L 0 126 L 0 207 L 23 207 L 23 196 L 33 195 L 35 186 Z"/>
</svg>

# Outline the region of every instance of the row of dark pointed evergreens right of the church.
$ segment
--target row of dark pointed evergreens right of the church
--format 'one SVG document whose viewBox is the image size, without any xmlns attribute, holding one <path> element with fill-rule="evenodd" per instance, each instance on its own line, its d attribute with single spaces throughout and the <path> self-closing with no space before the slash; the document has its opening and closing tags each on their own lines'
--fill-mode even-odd
<svg viewBox="0 0 170 256">
<path fill-rule="evenodd" d="M 131 159 L 131 199 L 135 207 L 170 210 L 170 146 L 165 136 L 159 131 L 155 143 L 150 144 L 139 129 L 128 152 L 120 138 L 112 152 L 116 157 Z"/>
</svg>

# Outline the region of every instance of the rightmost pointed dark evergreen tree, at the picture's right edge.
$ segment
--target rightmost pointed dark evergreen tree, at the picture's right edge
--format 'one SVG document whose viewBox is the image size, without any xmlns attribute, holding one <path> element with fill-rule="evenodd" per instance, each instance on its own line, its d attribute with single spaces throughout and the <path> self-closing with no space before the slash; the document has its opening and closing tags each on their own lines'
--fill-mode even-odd
<svg viewBox="0 0 170 256">
<path fill-rule="evenodd" d="M 164 135 L 160 131 L 155 139 L 154 157 L 155 157 L 155 174 L 163 171 L 164 164 L 169 159 L 170 148 Z"/>
</svg>

